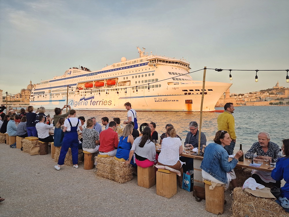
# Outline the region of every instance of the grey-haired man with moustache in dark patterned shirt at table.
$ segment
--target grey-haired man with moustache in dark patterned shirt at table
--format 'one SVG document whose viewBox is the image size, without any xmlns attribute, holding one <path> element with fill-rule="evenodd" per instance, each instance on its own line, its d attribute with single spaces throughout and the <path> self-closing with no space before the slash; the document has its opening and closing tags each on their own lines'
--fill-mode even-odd
<svg viewBox="0 0 289 217">
<path fill-rule="evenodd" d="M 260 132 L 258 134 L 258 142 L 253 143 L 248 152 L 251 154 L 256 153 L 256 159 L 268 159 L 271 161 L 272 158 L 277 158 L 279 153 L 279 146 L 276 143 L 270 141 L 269 133 Z M 272 179 L 271 172 L 252 170 L 252 178 L 254 178 L 259 184 L 262 184 L 262 181 L 266 183 L 272 182 L 274 186 L 279 188 L 281 187 L 281 181 L 275 181 Z"/>
</svg>

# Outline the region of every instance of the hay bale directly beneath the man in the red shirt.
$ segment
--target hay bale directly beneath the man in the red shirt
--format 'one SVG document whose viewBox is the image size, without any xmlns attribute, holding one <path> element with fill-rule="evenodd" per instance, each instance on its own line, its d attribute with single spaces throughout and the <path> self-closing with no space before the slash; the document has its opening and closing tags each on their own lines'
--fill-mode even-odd
<svg viewBox="0 0 289 217">
<path fill-rule="evenodd" d="M 114 158 L 113 157 L 95 157 L 97 165 L 96 176 L 114 180 Z"/>
</svg>

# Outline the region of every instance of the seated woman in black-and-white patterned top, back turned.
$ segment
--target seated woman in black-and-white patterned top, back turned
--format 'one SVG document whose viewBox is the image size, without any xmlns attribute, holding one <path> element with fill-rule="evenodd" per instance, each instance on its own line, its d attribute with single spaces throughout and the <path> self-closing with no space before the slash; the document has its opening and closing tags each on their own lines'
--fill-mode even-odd
<svg viewBox="0 0 289 217">
<path fill-rule="evenodd" d="M 93 128 L 93 120 L 86 121 L 86 128 L 82 130 L 82 149 L 84 151 L 95 153 L 99 149 L 99 135 Z"/>
</svg>

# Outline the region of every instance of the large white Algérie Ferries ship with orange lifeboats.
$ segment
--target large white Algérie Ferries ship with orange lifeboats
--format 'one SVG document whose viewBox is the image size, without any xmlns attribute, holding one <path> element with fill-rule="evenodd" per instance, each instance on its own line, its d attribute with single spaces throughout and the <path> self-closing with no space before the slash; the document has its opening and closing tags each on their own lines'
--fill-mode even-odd
<svg viewBox="0 0 289 217">
<path fill-rule="evenodd" d="M 70 68 L 34 84 L 30 105 L 54 109 L 68 98 L 68 105 L 77 110 L 125 110 L 125 102 L 131 102 L 137 111 L 200 111 L 203 82 L 192 79 L 189 62 L 137 49 L 139 58 L 123 57 L 99 71 Z M 214 111 L 231 85 L 207 81 L 203 111 Z"/>
</svg>

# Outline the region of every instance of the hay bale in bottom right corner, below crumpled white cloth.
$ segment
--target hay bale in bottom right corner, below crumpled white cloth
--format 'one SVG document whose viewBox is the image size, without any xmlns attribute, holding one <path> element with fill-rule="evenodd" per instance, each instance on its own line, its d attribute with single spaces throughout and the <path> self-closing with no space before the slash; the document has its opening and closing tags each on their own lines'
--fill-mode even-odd
<svg viewBox="0 0 289 217">
<path fill-rule="evenodd" d="M 289 216 L 284 209 L 271 199 L 249 196 L 241 187 L 233 191 L 232 217 L 284 217 Z"/>
</svg>

